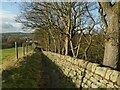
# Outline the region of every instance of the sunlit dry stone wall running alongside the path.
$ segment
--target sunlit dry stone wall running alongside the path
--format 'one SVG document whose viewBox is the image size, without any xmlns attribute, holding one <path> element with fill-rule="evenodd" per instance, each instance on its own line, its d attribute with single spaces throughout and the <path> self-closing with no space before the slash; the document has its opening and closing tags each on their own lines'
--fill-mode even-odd
<svg viewBox="0 0 120 90">
<path fill-rule="evenodd" d="M 99 64 L 52 52 L 43 53 L 80 88 L 120 88 L 120 72 Z"/>
</svg>

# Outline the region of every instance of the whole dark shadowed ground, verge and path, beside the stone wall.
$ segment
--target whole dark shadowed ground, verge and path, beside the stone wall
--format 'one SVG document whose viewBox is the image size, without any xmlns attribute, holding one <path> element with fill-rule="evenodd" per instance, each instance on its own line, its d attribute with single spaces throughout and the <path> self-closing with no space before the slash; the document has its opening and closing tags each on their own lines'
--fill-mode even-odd
<svg viewBox="0 0 120 90">
<path fill-rule="evenodd" d="M 2 72 L 2 88 L 75 88 L 75 84 L 43 53 L 33 53 Z"/>
</svg>

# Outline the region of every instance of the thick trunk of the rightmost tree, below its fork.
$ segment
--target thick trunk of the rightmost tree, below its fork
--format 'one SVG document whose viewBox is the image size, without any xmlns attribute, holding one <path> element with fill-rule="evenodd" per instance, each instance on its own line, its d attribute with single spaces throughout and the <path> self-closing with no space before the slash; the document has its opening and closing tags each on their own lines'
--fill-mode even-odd
<svg viewBox="0 0 120 90">
<path fill-rule="evenodd" d="M 120 28 L 118 22 L 118 15 L 111 14 L 109 17 L 109 25 L 107 31 L 107 38 L 105 40 L 105 52 L 103 65 L 117 68 L 119 58 L 119 48 L 120 48 Z"/>
</svg>

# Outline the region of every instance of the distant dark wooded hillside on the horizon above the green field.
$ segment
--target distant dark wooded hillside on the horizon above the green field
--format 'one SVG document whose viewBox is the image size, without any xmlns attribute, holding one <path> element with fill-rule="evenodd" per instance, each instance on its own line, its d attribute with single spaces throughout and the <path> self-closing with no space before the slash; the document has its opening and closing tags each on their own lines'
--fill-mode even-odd
<svg viewBox="0 0 120 90">
<path fill-rule="evenodd" d="M 2 36 L 2 43 L 0 44 L 0 48 L 14 47 L 14 42 L 16 41 L 18 46 L 22 46 L 22 43 L 25 42 L 26 39 L 34 39 L 34 33 L 0 33 L 0 36 Z"/>
</svg>

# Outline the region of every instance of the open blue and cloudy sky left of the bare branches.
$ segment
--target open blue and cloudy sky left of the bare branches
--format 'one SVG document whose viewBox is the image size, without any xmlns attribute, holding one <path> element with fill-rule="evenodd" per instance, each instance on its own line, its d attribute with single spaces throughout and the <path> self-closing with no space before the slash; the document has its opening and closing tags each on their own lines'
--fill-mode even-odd
<svg viewBox="0 0 120 90">
<path fill-rule="evenodd" d="M 15 21 L 15 18 L 20 14 L 19 4 L 22 2 L 2 2 L 0 10 L 0 33 L 7 32 L 25 32 L 22 30 L 22 24 Z M 28 31 L 26 31 L 28 32 Z"/>
</svg>

